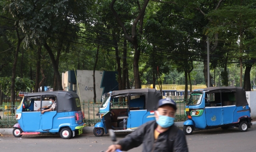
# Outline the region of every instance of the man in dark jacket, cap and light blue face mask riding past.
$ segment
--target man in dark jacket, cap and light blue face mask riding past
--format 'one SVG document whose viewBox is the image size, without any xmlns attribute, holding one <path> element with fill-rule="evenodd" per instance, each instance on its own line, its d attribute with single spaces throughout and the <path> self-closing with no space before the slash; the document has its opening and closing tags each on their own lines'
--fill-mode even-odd
<svg viewBox="0 0 256 152">
<path fill-rule="evenodd" d="M 106 152 L 116 149 L 128 151 L 143 143 L 142 152 L 188 152 L 183 131 L 174 125 L 176 103 L 170 98 L 160 99 L 155 111 L 156 121 L 147 122 L 128 134 Z"/>
</svg>

